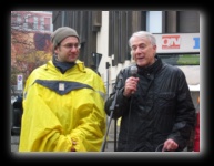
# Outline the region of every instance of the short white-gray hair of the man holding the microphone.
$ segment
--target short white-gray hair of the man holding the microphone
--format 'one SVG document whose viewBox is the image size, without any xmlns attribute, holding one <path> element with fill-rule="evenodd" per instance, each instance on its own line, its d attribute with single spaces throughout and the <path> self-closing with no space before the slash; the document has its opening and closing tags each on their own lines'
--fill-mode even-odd
<svg viewBox="0 0 214 166">
<path fill-rule="evenodd" d="M 146 38 L 146 39 L 150 40 L 152 45 L 156 45 L 156 39 L 152 33 L 146 32 L 146 31 L 139 31 L 139 32 L 134 32 L 132 34 L 132 37 L 130 38 L 130 40 L 129 40 L 130 48 L 132 48 L 132 41 L 133 41 L 134 38 L 141 38 L 141 39 Z"/>
</svg>

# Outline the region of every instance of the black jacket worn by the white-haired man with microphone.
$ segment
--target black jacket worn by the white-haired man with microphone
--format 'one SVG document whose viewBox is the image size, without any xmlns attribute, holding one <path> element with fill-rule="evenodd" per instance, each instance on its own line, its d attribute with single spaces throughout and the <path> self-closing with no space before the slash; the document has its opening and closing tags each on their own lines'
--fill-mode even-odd
<svg viewBox="0 0 214 166">
<path fill-rule="evenodd" d="M 121 85 L 114 86 L 105 102 L 108 115 L 112 112 L 113 118 L 122 116 L 118 151 L 154 152 L 167 138 L 179 144 L 177 151 L 183 151 L 195 122 L 195 107 L 184 73 L 157 58 L 146 69 L 137 66 L 137 91 L 126 98 L 122 93 L 125 80 L 131 76 L 130 69 L 120 71 L 116 83 Z M 116 90 L 116 106 L 112 111 L 110 107 Z"/>
</svg>

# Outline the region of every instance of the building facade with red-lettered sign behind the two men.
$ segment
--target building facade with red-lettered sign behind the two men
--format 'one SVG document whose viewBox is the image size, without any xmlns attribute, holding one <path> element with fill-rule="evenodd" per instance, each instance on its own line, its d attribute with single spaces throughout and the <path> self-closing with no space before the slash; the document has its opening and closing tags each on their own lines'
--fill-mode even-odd
<svg viewBox="0 0 214 166">
<path fill-rule="evenodd" d="M 200 93 L 200 11 L 53 11 L 53 30 L 68 25 L 80 34 L 80 60 L 101 74 L 108 94 L 132 58 L 128 40 L 146 30 L 157 38 L 157 53 L 181 68 L 194 104 Z M 164 42 L 167 42 L 164 44 Z M 169 44 L 170 46 L 166 46 Z M 191 59 L 191 60 L 190 60 Z M 177 61 L 180 60 L 180 61 Z"/>
</svg>

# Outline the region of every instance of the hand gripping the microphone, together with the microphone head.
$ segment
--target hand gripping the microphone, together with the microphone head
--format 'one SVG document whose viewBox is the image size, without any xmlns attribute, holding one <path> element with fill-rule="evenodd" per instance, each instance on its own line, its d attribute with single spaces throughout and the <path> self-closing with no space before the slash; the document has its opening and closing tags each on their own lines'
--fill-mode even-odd
<svg viewBox="0 0 214 166">
<path fill-rule="evenodd" d="M 123 92 L 123 95 L 126 97 L 131 96 L 136 92 L 137 82 L 139 82 L 139 77 L 136 77 L 137 68 L 131 66 L 130 73 L 131 73 L 131 76 L 126 79 L 125 87 Z"/>
</svg>

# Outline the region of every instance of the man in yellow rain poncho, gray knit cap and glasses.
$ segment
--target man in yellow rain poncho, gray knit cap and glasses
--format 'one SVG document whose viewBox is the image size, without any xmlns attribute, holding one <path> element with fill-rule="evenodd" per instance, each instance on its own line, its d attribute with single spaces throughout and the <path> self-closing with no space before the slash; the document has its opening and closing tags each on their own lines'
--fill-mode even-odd
<svg viewBox="0 0 214 166">
<path fill-rule="evenodd" d="M 75 30 L 61 27 L 51 42 L 52 60 L 24 85 L 19 152 L 98 152 L 106 124 L 104 83 L 78 59 Z"/>
</svg>

